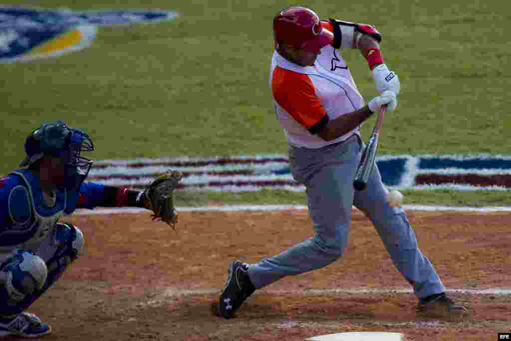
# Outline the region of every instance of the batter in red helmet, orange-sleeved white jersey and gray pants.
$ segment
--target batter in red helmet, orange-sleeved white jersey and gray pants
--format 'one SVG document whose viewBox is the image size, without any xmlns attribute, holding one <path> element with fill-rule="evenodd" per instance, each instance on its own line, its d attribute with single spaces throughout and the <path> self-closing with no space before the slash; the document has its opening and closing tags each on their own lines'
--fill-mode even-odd
<svg viewBox="0 0 511 341">
<path fill-rule="evenodd" d="M 442 281 L 417 246 L 404 210 L 386 202 L 387 190 L 376 164 L 367 188 L 353 189 L 362 149 L 360 125 L 382 105 L 386 111 L 396 109 L 400 90 L 398 76 L 383 62 L 380 33 L 370 25 L 320 21 L 303 7 L 280 11 L 273 33 L 273 104 L 288 140 L 293 177 L 307 190 L 315 236 L 256 264 L 233 261 L 217 313 L 229 319 L 255 289 L 340 258 L 350 232 L 352 204 L 375 225 L 392 262 L 419 299 L 420 312 L 466 311 L 446 296 Z M 369 65 L 380 95 L 367 104 L 342 58 L 343 49 L 359 49 Z"/>
</svg>

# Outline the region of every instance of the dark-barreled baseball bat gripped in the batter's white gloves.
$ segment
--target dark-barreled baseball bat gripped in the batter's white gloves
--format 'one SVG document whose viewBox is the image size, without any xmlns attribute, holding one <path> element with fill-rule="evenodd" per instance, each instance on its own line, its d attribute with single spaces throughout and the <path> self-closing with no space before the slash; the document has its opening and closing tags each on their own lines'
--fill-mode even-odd
<svg viewBox="0 0 511 341">
<path fill-rule="evenodd" d="M 357 167 L 357 172 L 355 173 L 355 180 L 353 180 L 353 187 L 357 191 L 363 191 L 367 187 L 367 179 L 369 178 L 369 174 L 373 170 L 373 165 L 375 163 L 376 150 L 378 149 L 378 139 L 380 137 L 380 130 L 383 124 L 383 113 L 385 112 L 386 105 L 382 105 L 380 107 L 380 111 L 378 112 L 378 117 L 376 118 L 375 127 L 373 128 L 373 132 L 371 133 L 369 140 L 367 141 L 367 145 L 362 151 L 362 156 L 360 157 L 360 162 Z"/>
</svg>

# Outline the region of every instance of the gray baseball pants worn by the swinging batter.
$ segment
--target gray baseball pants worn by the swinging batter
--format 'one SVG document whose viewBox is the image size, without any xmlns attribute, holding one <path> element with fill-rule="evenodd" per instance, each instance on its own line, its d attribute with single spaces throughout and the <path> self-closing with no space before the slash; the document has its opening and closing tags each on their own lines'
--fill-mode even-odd
<svg viewBox="0 0 511 341">
<path fill-rule="evenodd" d="M 367 188 L 354 191 L 361 148 L 358 135 L 319 149 L 289 146 L 291 171 L 294 179 L 306 186 L 316 234 L 279 255 L 250 264 L 248 275 L 255 288 L 319 269 L 340 258 L 347 245 L 353 204 L 373 222 L 392 262 L 417 297 L 445 291 L 435 269 L 417 246 L 404 210 L 392 208 L 385 201 L 386 189 L 376 165 Z"/>
</svg>

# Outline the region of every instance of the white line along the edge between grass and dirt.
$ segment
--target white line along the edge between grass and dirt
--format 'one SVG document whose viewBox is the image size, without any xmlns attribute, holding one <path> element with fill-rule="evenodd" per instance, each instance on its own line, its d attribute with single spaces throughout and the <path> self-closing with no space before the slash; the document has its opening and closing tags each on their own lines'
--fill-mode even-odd
<svg viewBox="0 0 511 341">
<path fill-rule="evenodd" d="M 452 206 L 423 206 L 423 205 L 403 205 L 408 211 L 429 211 L 429 212 L 511 212 L 511 207 L 452 207 Z M 176 207 L 177 212 L 278 212 L 278 211 L 304 211 L 307 206 L 303 205 L 226 205 L 226 206 L 207 206 L 207 207 Z M 146 209 L 140 208 L 101 208 L 95 210 L 79 209 L 74 215 L 104 215 L 119 213 L 142 213 L 147 212 Z"/>
</svg>

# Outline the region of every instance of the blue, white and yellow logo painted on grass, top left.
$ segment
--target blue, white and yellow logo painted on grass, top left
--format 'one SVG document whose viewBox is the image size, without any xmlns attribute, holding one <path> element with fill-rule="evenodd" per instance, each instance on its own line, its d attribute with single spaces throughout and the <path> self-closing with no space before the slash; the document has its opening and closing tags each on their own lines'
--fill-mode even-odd
<svg viewBox="0 0 511 341">
<path fill-rule="evenodd" d="M 29 61 L 90 46 L 98 25 L 157 22 L 178 16 L 164 11 L 44 10 L 0 7 L 0 62 Z"/>
</svg>

